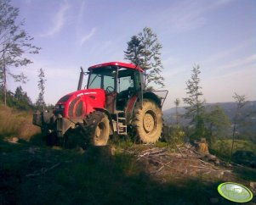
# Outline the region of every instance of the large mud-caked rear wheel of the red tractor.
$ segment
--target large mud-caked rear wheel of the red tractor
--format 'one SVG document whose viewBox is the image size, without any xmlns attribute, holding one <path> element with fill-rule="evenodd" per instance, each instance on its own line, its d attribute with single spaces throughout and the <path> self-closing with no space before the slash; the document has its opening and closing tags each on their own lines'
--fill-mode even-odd
<svg viewBox="0 0 256 205">
<path fill-rule="evenodd" d="M 155 143 L 162 134 L 162 110 L 156 102 L 144 99 L 134 109 L 133 127 L 139 140 L 144 143 Z"/>
</svg>

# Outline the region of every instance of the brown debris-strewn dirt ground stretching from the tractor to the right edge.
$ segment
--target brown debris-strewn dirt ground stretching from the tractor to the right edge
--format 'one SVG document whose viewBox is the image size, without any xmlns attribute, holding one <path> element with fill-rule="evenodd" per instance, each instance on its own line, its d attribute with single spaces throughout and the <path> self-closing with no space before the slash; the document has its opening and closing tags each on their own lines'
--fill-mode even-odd
<svg viewBox="0 0 256 205">
<path fill-rule="evenodd" d="M 222 183 L 232 181 L 247 186 L 256 195 L 256 169 L 236 163 L 225 162 L 212 154 L 202 154 L 196 147 L 185 144 L 170 152 L 168 147 L 148 147 L 143 151 L 134 152 L 139 163 L 142 163 L 148 175 L 162 184 L 170 181 L 179 184 L 180 180 L 200 180 L 204 183 Z M 216 187 L 217 190 L 217 187 Z M 221 197 L 210 199 L 212 204 L 222 204 Z M 255 199 L 254 199 L 255 200 Z M 254 202 L 247 204 L 255 205 Z"/>
</svg>

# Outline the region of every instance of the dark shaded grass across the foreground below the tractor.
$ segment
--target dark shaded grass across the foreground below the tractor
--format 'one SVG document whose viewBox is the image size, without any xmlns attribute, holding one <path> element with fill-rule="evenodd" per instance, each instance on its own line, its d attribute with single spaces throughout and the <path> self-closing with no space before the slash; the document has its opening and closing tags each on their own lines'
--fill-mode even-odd
<svg viewBox="0 0 256 205">
<path fill-rule="evenodd" d="M 106 147 L 55 150 L 0 141 L 0 204 L 233 204 L 219 197 L 222 181 L 147 175 L 133 155 Z M 60 164 L 59 164 L 60 163 Z M 59 164 L 50 169 L 54 164 Z M 33 174 L 40 174 L 29 176 Z"/>
</svg>

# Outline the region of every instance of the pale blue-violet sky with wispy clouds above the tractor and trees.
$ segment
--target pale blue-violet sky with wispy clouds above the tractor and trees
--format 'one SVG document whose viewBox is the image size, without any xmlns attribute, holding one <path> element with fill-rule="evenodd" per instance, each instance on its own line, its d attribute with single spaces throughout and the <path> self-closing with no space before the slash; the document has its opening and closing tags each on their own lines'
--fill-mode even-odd
<svg viewBox="0 0 256 205">
<path fill-rule="evenodd" d="M 38 70 L 46 75 L 45 100 L 55 104 L 76 91 L 80 67 L 124 61 L 127 42 L 145 26 L 162 44 L 162 75 L 168 98 L 163 109 L 186 97 L 185 81 L 200 65 L 206 102 L 232 102 L 234 92 L 256 100 L 255 0 L 12 0 L 24 29 L 42 47 L 18 68 L 29 81 L 22 86 L 33 102 Z M 182 102 L 182 101 L 181 101 Z M 183 105 L 183 103 L 181 103 Z"/>
</svg>

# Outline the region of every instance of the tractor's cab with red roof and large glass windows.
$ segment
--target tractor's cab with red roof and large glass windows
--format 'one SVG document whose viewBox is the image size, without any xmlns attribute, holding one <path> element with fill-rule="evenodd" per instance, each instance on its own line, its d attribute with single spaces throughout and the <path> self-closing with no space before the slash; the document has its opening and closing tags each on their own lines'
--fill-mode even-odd
<svg viewBox="0 0 256 205">
<path fill-rule="evenodd" d="M 141 97 L 143 69 L 134 64 L 111 62 L 88 68 L 88 84 L 84 88 L 105 91 L 105 109 L 110 114 L 124 110 L 133 97 Z M 82 76 L 82 75 L 80 75 Z M 81 78 L 79 84 L 81 83 Z M 81 87 L 78 86 L 78 90 Z"/>
</svg>

